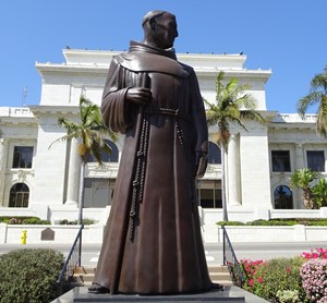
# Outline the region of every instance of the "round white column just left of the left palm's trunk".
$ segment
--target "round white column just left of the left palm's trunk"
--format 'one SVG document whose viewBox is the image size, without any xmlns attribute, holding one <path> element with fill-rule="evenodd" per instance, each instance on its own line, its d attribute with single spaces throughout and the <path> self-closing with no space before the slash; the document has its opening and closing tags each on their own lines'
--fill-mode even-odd
<svg viewBox="0 0 327 303">
<path fill-rule="evenodd" d="M 78 156 L 78 141 L 72 138 L 69 154 L 69 170 L 66 181 L 66 205 L 76 205 L 78 202 L 78 180 L 81 158 Z"/>
</svg>

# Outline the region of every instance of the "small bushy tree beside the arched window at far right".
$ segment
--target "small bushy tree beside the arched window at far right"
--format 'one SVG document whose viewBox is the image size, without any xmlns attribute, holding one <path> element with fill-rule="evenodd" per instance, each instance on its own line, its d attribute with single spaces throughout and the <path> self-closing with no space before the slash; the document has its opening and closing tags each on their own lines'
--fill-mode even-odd
<svg viewBox="0 0 327 303">
<path fill-rule="evenodd" d="M 318 208 L 314 202 L 311 183 L 316 180 L 318 173 L 308 168 L 296 169 L 290 179 L 291 189 L 298 187 L 303 190 L 302 201 L 306 208 Z"/>
</svg>

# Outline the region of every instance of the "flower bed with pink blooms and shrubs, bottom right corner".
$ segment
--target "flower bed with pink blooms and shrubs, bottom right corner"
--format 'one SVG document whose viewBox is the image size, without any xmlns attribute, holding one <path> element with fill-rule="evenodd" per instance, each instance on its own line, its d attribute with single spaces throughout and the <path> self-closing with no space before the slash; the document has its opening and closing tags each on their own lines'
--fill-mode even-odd
<svg viewBox="0 0 327 303">
<path fill-rule="evenodd" d="M 327 302 L 327 250 L 293 258 L 241 259 L 243 288 L 270 302 Z"/>
</svg>

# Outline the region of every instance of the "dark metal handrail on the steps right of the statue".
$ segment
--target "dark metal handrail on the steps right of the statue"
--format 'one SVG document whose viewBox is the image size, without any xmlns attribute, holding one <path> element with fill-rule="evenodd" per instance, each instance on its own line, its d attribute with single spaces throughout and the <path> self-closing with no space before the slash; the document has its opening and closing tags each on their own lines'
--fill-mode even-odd
<svg viewBox="0 0 327 303">
<path fill-rule="evenodd" d="M 228 237 L 225 226 L 221 226 L 221 229 L 222 229 L 222 235 L 223 235 L 223 241 L 222 241 L 223 265 L 228 266 L 229 272 L 232 276 L 232 279 L 237 282 L 237 284 L 242 287 L 245 281 L 244 275 L 242 272 L 241 266 L 239 264 L 234 249 L 230 242 L 230 239 Z"/>
</svg>

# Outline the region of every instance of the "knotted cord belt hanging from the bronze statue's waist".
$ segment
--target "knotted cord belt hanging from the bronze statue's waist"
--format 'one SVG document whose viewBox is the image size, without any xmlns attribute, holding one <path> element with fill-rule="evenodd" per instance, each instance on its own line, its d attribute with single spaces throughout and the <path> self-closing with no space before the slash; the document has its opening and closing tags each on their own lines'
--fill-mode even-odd
<svg viewBox="0 0 327 303">
<path fill-rule="evenodd" d="M 174 118 L 179 142 L 181 145 L 183 145 L 183 131 L 179 125 L 179 119 L 190 121 L 189 114 L 183 113 L 179 109 L 146 108 L 143 112 L 141 137 L 140 137 L 138 150 L 136 153 L 135 178 L 132 183 L 133 194 L 132 194 L 132 205 L 130 211 L 130 241 L 131 242 L 134 242 L 135 226 L 138 225 L 138 210 L 140 210 L 140 204 L 142 203 L 143 199 L 144 181 L 145 181 L 146 156 L 147 156 L 148 135 L 149 135 L 149 116 L 154 116 L 154 114 L 170 116 Z"/>
</svg>

